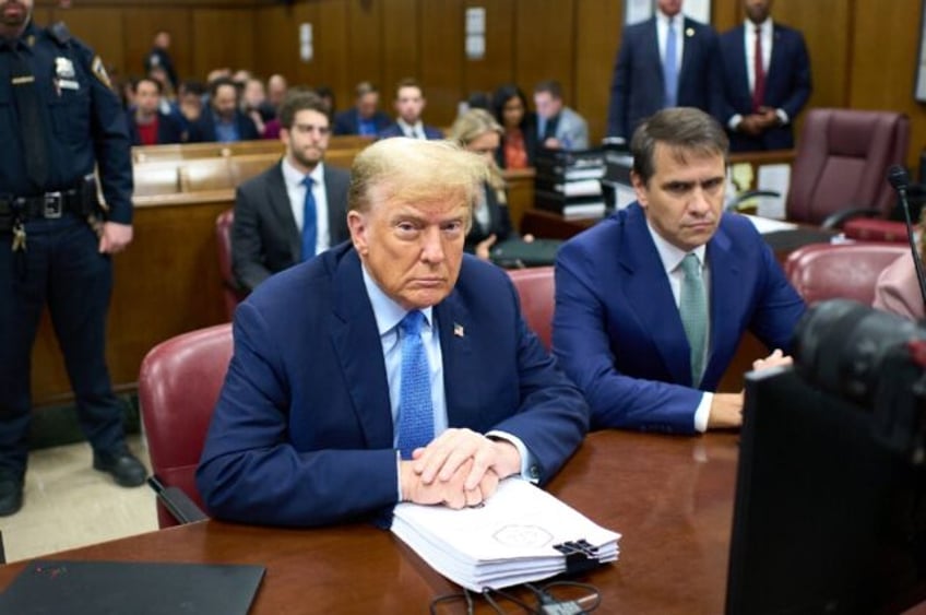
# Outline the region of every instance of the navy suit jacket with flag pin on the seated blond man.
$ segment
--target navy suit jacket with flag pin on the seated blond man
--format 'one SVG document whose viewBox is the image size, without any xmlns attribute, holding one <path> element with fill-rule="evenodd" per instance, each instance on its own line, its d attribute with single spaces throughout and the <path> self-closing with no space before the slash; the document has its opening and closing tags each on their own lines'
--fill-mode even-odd
<svg viewBox="0 0 926 615">
<path fill-rule="evenodd" d="M 521 438 L 548 480 L 579 446 L 589 407 L 524 324 L 508 275 L 464 256 L 434 314 L 449 425 Z M 238 307 L 234 333 L 197 473 L 211 512 L 319 525 L 391 510 L 385 362 L 353 246 L 270 277 Z"/>
</svg>

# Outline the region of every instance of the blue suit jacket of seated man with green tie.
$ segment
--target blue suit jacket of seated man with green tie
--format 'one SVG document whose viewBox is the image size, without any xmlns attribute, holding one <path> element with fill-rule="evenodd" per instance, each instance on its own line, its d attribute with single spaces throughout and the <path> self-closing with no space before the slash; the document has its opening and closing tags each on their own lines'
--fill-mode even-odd
<svg viewBox="0 0 926 615">
<path fill-rule="evenodd" d="M 713 391 L 745 331 L 787 352 L 805 307 L 744 216 L 723 215 L 707 259 L 711 347 L 700 388 Z M 688 340 L 638 203 L 560 249 L 553 344 L 585 393 L 593 428 L 694 431 L 702 393 L 691 388 Z"/>
</svg>

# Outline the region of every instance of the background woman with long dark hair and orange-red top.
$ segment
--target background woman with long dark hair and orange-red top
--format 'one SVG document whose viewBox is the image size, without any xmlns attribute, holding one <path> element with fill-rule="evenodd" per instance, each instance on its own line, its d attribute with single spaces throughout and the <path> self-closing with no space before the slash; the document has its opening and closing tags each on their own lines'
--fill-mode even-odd
<svg viewBox="0 0 926 615">
<path fill-rule="evenodd" d="M 534 166 L 537 151 L 537 120 L 527 111 L 527 97 L 517 85 L 502 85 L 492 95 L 495 119 L 504 129 L 496 162 L 501 168 Z"/>
</svg>

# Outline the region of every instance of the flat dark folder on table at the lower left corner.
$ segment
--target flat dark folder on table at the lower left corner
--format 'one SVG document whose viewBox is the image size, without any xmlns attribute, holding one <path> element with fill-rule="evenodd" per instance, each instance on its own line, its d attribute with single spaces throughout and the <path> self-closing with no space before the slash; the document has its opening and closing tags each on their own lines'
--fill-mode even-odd
<svg viewBox="0 0 926 615">
<path fill-rule="evenodd" d="M 0 594 L 16 615 L 246 615 L 263 566 L 31 561 Z"/>
</svg>

